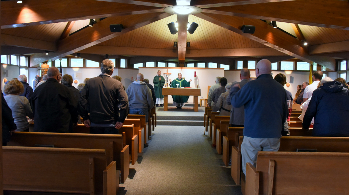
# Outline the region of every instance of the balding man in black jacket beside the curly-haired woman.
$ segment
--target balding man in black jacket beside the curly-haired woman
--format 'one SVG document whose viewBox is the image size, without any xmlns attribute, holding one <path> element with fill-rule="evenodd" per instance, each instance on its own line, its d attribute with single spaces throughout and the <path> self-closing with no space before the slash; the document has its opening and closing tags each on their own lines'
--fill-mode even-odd
<svg viewBox="0 0 349 195">
<path fill-rule="evenodd" d="M 68 133 L 77 123 L 77 102 L 68 87 L 59 84 L 56 67 L 47 70 L 47 81 L 37 86 L 32 97 L 35 132 Z"/>
</svg>

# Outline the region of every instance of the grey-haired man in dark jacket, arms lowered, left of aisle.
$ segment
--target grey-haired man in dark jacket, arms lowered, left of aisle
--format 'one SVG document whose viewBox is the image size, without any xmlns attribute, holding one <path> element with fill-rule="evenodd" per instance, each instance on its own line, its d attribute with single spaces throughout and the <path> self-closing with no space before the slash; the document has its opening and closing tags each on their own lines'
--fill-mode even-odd
<svg viewBox="0 0 349 195">
<path fill-rule="evenodd" d="M 101 71 L 81 91 L 80 114 L 91 133 L 119 134 L 128 114 L 127 94 L 121 82 L 111 78 L 114 71 L 111 60 L 103 60 Z"/>
</svg>

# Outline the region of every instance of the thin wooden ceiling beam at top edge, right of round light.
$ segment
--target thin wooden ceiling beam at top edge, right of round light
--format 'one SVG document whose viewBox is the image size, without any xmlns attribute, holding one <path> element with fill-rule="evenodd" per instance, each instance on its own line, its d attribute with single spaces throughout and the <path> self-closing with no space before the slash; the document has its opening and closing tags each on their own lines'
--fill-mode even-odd
<svg viewBox="0 0 349 195">
<path fill-rule="evenodd" d="M 296 1 L 296 0 L 198 0 L 192 3 L 196 7 L 210 8 L 210 7 L 225 7 L 225 6 L 236 6 L 236 5 L 250 5 L 258 3 L 270 3 L 270 2 L 282 2 L 282 1 Z M 214 2 L 214 3 L 213 3 Z"/>
</svg>

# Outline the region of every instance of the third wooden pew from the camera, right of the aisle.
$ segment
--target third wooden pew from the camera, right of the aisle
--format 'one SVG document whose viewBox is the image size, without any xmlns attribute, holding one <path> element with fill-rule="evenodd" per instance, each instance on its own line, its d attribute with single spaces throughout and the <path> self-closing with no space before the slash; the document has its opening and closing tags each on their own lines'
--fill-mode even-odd
<svg viewBox="0 0 349 195">
<path fill-rule="evenodd" d="M 223 136 L 223 157 L 222 160 L 225 166 L 228 166 L 231 154 L 231 146 L 236 148 L 239 145 L 239 136 L 243 135 L 243 127 L 229 127 L 227 136 Z"/>
</svg>

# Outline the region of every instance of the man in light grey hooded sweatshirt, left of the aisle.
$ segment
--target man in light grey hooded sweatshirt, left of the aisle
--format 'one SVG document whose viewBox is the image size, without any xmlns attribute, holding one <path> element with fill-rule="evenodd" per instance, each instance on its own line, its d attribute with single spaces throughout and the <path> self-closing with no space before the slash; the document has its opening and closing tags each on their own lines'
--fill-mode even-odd
<svg viewBox="0 0 349 195">
<path fill-rule="evenodd" d="M 137 80 L 133 81 L 127 88 L 129 114 L 146 115 L 148 118 L 148 110 L 154 107 L 154 100 L 151 90 L 145 82 L 142 73 L 137 74 Z"/>
</svg>

